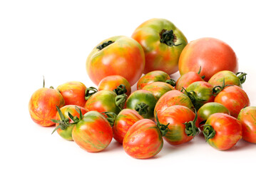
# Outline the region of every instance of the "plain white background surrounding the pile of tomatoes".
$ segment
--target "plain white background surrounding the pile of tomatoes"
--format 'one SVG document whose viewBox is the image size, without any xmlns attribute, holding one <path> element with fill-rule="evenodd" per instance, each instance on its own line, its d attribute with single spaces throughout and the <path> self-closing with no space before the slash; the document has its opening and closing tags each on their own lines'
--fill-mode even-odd
<svg viewBox="0 0 256 171">
<path fill-rule="evenodd" d="M 0 167 L 4 170 L 255 170 L 256 145 L 240 140 L 227 151 L 210 147 L 202 135 L 183 145 L 165 142 L 149 160 L 126 155 L 115 140 L 103 152 L 89 153 L 43 128 L 29 115 L 32 93 L 81 81 L 86 57 L 100 41 L 130 36 L 151 18 L 172 21 L 193 41 L 205 36 L 228 43 L 248 73 L 243 85 L 256 105 L 255 4 L 253 1 L 1 1 Z M 222 62 L 222 61 L 220 61 Z M 175 74 L 174 78 L 177 78 Z M 134 88 L 133 88 L 134 90 Z M 2 170 L 2 169 L 1 169 Z"/>
</svg>

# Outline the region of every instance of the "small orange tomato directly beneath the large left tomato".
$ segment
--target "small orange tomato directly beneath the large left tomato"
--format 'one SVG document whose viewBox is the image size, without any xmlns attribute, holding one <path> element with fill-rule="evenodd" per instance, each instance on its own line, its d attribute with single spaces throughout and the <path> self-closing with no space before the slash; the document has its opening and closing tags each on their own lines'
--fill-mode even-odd
<svg viewBox="0 0 256 171">
<path fill-rule="evenodd" d="M 125 86 L 126 95 L 130 95 L 130 83 L 122 76 L 107 76 L 101 80 L 98 84 L 98 90 L 115 90 L 116 93 L 121 90 L 121 93 L 125 93 L 122 89 L 118 88 L 120 85 Z M 117 89 L 118 88 L 118 89 Z M 121 93 L 117 93 L 121 95 Z"/>
</svg>

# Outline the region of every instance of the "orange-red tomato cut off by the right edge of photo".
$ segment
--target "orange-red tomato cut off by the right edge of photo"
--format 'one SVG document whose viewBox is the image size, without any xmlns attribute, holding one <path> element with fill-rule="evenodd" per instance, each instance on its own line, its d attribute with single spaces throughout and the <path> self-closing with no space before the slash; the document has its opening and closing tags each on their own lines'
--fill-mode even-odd
<svg viewBox="0 0 256 171">
<path fill-rule="evenodd" d="M 242 123 L 242 139 L 256 143 L 256 107 L 243 108 L 237 119 Z"/>
</svg>

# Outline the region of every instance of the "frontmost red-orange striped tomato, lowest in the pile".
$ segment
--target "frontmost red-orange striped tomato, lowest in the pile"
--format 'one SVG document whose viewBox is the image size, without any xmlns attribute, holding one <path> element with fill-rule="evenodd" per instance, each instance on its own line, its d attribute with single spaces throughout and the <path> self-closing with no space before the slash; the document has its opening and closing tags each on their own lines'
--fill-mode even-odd
<svg viewBox="0 0 256 171">
<path fill-rule="evenodd" d="M 128 155 L 145 159 L 158 154 L 163 148 L 163 138 L 153 120 L 142 119 L 134 123 L 123 139 L 123 149 Z"/>
</svg>

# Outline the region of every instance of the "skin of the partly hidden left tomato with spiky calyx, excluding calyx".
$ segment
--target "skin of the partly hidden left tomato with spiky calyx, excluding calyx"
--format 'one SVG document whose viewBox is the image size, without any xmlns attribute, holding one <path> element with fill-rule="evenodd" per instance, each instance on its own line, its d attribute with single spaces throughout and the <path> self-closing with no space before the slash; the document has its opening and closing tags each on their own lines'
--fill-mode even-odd
<svg viewBox="0 0 256 171">
<path fill-rule="evenodd" d="M 86 108 L 77 106 L 77 108 L 79 108 L 81 110 L 81 113 L 84 115 L 85 113 L 88 112 L 88 110 Z M 80 114 L 76 111 L 76 105 L 65 105 L 62 108 L 60 108 L 61 113 L 63 113 L 64 118 L 69 118 L 68 117 L 68 113 L 70 113 L 71 115 L 73 115 L 73 117 L 78 117 L 80 116 Z M 58 112 L 56 113 L 56 120 L 61 120 L 60 115 L 58 114 Z M 73 121 L 71 119 L 69 119 L 69 123 L 73 123 Z M 56 127 L 58 126 L 58 123 L 56 123 Z M 70 125 L 68 128 L 66 128 L 66 130 L 61 130 L 61 128 L 58 128 L 57 133 L 58 135 L 61 135 L 62 138 L 64 138 L 65 140 L 73 140 L 72 138 L 72 130 L 73 127 L 75 125 Z"/>
</svg>

